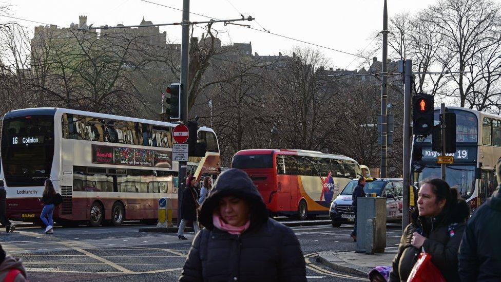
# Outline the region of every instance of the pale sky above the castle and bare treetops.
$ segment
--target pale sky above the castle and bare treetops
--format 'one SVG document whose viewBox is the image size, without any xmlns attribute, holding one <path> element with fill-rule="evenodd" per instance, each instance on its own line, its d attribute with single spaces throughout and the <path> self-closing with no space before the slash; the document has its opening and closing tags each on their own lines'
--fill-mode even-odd
<svg viewBox="0 0 501 282">
<path fill-rule="evenodd" d="M 144 16 L 146 21 L 157 23 L 181 22 L 181 11 L 145 3 L 140 0 L 0 0 L 11 6 L 12 16 L 26 18 L 31 21 L 69 27 L 78 24 L 79 15 L 87 15 L 87 24 L 94 26 L 117 24 L 138 25 Z M 151 0 L 151 2 L 182 9 L 182 0 Z M 436 0 L 388 0 L 388 13 L 392 15 L 419 11 L 433 5 Z M 235 8 L 232 6 L 235 6 Z M 374 32 L 382 29 L 383 0 L 331 0 L 331 1 L 241 1 L 241 0 L 191 0 L 190 12 L 200 13 L 219 19 L 239 18 L 240 11 L 244 16 L 252 15 L 254 22 L 237 22 L 259 25 L 271 32 L 288 37 L 315 43 L 350 53 L 358 53 L 373 40 Z M 6 21 L 0 18 L 0 21 Z M 208 18 L 190 14 L 190 21 L 207 21 Z M 23 26 L 38 24 L 18 21 Z M 329 49 L 303 44 L 297 41 L 251 30 L 245 27 L 224 26 L 213 27 L 221 31 L 218 37 L 223 45 L 230 43 L 252 42 L 253 53 L 274 55 L 287 53 L 294 46 L 308 46 L 319 49 L 330 58 L 334 67 L 355 69 L 361 63 L 356 57 Z M 167 31 L 170 41 L 181 42 L 181 27 L 161 27 Z M 195 35 L 203 30 L 197 28 Z M 372 41 L 372 44 L 375 42 Z M 381 54 L 376 54 L 380 60 Z M 351 65 L 350 65 L 351 64 Z"/>
</svg>

